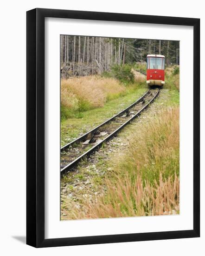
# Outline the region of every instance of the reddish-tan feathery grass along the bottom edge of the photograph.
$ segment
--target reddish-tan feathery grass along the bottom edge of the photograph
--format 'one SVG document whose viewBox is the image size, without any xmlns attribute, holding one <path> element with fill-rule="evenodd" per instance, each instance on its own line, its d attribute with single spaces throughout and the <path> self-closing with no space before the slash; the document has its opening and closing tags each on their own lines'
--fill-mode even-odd
<svg viewBox="0 0 205 256">
<path fill-rule="evenodd" d="M 163 181 L 160 175 L 159 184 L 152 185 L 147 180 L 142 181 L 140 175 L 133 181 L 131 177 L 116 177 L 116 186 L 107 180 L 108 194 L 92 200 L 81 198 L 83 210 L 75 209 L 73 202 L 67 201 L 65 219 L 96 219 L 130 216 L 156 216 L 179 213 L 179 177 L 169 177 Z M 66 198 L 65 198 L 66 201 Z"/>
</svg>

